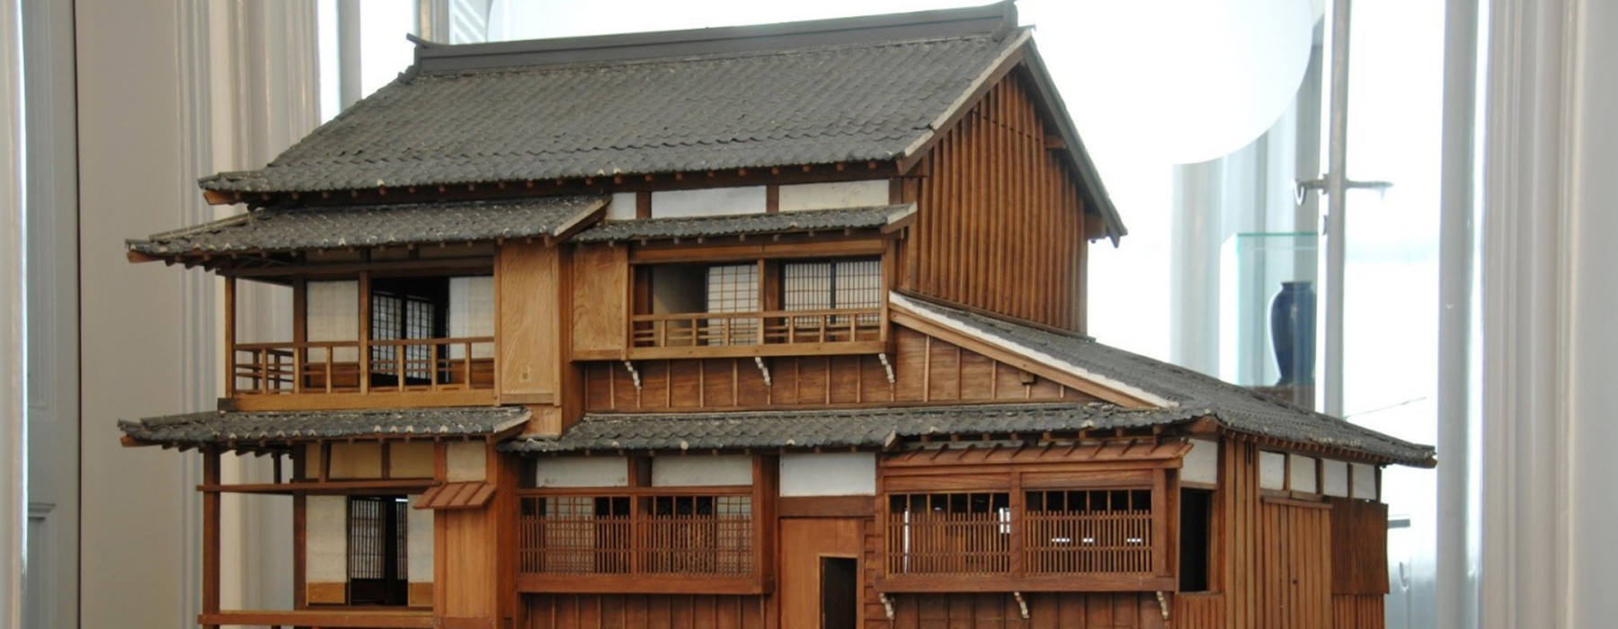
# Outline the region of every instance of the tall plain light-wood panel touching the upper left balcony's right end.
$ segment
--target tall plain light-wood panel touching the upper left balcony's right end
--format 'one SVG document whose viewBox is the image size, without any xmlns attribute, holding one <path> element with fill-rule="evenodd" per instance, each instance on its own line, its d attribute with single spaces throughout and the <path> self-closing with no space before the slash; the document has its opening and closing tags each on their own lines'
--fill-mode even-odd
<svg viewBox="0 0 1618 629">
<path fill-rule="evenodd" d="M 497 304 L 502 395 L 557 393 L 561 365 L 558 249 L 542 243 L 500 247 Z"/>
</svg>

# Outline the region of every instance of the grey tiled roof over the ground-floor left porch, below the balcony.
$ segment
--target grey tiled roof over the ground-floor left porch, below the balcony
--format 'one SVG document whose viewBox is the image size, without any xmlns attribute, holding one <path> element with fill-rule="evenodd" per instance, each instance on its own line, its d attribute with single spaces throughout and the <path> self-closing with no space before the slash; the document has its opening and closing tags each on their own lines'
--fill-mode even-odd
<svg viewBox="0 0 1618 629">
<path fill-rule="evenodd" d="M 524 407 L 427 407 L 385 411 L 193 412 L 118 420 L 136 441 L 170 445 L 293 443 L 343 437 L 487 437 L 529 417 Z"/>
</svg>

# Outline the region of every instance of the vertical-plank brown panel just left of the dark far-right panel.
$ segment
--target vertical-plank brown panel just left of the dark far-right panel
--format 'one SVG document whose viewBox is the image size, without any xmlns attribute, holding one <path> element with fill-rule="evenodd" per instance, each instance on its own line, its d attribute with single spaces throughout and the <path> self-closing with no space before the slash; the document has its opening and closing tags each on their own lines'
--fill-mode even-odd
<svg viewBox="0 0 1618 629">
<path fill-rule="evenodd" d="M 1260 627 L 1332 627 L 1332 508 L 1265 500 L 1259 504 Z"/>
</svg>

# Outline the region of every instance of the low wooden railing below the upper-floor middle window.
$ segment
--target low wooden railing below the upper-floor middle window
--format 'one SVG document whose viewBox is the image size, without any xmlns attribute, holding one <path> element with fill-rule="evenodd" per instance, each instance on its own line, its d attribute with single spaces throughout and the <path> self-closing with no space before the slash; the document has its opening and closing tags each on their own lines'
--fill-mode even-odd
<svg viewBox="0 0 1618 629">
<path fill-rule="evenodd" d="M 699 354 L 769 354 L 760 348 L 822 348 L 883 340 L 882 309 L 680 312 L 633 319 L 633 346 L 704 348 Z"/>
</svg>

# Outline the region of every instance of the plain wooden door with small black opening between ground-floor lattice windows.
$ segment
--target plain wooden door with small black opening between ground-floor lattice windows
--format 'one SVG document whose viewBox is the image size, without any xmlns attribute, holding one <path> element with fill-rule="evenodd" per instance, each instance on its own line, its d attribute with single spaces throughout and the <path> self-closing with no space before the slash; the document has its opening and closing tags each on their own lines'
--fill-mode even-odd
<svg viewBox="0 0 1618 629">
<path fill-rule="evenodd" d="M 781 629 L 820 629 L 825 598 L 833 598 L 833 605 L 841 605 L 835 602 L 838 592 L 830 592 L 822 585 L 822 579 L 825 579 L 825 559 L 854 559 L 854 574 L 851 579 L 854 580 L 853 603 L 858 610 L 858 592 L 864 589 L 858 564 L 861 524 L 862 521 L 856 517 L 781 519 L 781 572 L 778 584 Z M 832 569 L 846 568 L 849 566 L 833 564 Z M 838 585 L 841 579 L 833 576 L 833 585 Z M 832 627 L 840 626 L 832 624 Z"/>
</svg>

